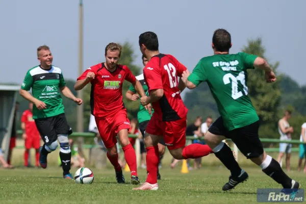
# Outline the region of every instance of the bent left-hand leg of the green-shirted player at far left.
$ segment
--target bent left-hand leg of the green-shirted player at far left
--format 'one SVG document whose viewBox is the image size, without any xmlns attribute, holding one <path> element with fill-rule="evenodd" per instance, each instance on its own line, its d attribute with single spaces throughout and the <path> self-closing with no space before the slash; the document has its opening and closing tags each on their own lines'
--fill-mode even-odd
<svg viewBox="0 0 306 204">
<path fill-rule="evenodd" d="M 39 151 L 39 163 L 45 169 L 48 154 L 58 147 L 57 133 L 54 130 L 55 117 L 35 119 L 35 124 L 44 143 Z"/>
</svg>

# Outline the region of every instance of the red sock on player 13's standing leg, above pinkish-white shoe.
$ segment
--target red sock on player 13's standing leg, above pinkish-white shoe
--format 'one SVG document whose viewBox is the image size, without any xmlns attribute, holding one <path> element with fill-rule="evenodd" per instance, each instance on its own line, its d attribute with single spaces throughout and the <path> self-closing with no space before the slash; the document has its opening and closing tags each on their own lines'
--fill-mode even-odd
<svg viewBox="0 0 306 204">
<path fill-rule="evenodd" d="M 149 184 L 157 183 L 157 170 L 159 162 L 159 151 L 158 146 L 151 146 L 145 148 L 147 151 L 146 163 L 147 163 L 147 179 L 146 182 Z"/>
</svg>

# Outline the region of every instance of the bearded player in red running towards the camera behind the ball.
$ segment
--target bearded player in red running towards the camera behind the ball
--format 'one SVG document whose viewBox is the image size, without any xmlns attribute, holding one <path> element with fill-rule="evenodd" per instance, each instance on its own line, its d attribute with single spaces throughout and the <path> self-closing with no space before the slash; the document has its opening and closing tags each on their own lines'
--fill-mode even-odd
<svg viewBox="0 0 306 204">
<path fill-rule="evenodd" d="M 130 121 L 122 101 L 122 84 L 124 80 L 133 84 L 139 95 L 145 96 L 144 90 L 129 67 L 118 64 L 122 47 L 109 43 L 105 48 L 106 62 L 89 67 L 77 80 L 75 90 L 83 89 L 91 83 L 90 106 L 105 147 L 107 157 L 116 171 L 118 183 L 124 183 L 124 176 L 118 163 L 117 139 L 124 152 L 124 158 L 131 170 L 132 184 L 139 184 L 135 150 L 130 143 L 128 130 Z M 146 106 L 150 111 L 150 105 Z"/>
</svg>

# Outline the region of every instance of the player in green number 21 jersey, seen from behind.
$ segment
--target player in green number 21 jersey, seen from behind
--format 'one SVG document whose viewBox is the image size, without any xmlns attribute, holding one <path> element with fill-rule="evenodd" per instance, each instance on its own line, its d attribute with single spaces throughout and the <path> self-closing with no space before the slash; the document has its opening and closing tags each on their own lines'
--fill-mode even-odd
<svg viewBox="0 0 306 204">
<path fill-rule="evenodd" d="M 231 190 L 248 178 L 230 147 L 222 142 L 226 138 L 232 139 L 247 159 L 285 189 L 299 188 L 299 183 L 290 179 L 279 163 L 264 151 L 258 135 L 259 117 L 248 97 L 247 69 L 263 69 L 268 83 L 276 81 L 275 74 L 263 58 L 246 53 L 229 54 L 232 42 L 226 30 L 216 30 L 212 41 L 214 55 L 202 58 L 191 74 L 185 71 L 183 80 L 189 89 L 207 82 L 216 100 L 221 116 L 209 128 L 205 141 L 231 171 L 230 180 L 222 190 Z"/>
</svg>

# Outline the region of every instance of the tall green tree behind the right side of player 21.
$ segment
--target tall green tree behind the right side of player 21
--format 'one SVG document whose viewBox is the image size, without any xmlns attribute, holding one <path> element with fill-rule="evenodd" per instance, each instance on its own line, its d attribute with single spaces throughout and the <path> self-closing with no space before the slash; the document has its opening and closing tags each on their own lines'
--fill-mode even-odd
<svg viewBox="0 0 306 204">
<path fill-rule="evenodd" d="M 257 55 L 264 59 L 266 49 L 262 44 L 262 39 L 248 40 L 247 46 L 244 46 L 242 52 Z M 274 73 L 277 74 L 279 62 L 270 64 Z M 281 103 L 281 89 L 279 88 L 279 79 L 274 83 L 266 83 L 264 80 L 264 71 L 255 69 L 248 70 L 248 96 L 253 106 L 256 108 L 261 120 L 259 130 L 260 137 L 278 137 L 277 121 L 278 106 Z M 279 76 L 277 76 L 279 77 Z"/>
</svg>

